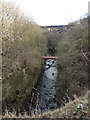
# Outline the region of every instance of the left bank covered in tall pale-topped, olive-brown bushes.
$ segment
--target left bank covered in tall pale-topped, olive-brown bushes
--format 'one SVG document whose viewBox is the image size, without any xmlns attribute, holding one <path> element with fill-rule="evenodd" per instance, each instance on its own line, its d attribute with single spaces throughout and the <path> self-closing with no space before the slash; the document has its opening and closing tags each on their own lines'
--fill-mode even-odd
<svg viewBox="0 0 90 120">
<path fill-rule="evenodd" d="M 24 107 L 41 72 L 46 38 L 39 26 L 21 16 L 11 3 L 0 2 L 2 14 L 3 110 Z"/>
</svg>

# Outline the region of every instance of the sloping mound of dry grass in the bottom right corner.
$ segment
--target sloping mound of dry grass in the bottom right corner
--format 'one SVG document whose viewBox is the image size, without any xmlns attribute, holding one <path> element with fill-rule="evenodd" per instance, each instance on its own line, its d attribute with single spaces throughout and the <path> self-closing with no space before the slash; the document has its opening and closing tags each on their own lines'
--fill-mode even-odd
<svg viewBox="0 0 90 120">
<path fill-rule="evenodd" d="M 77 109 L 77 104 L 83 104 L 83 110 Z M 64 107 L 44 113 L 44 118 L 88 118 L 88 95 L 75 98 L 74 101 L 69 101 Z"/>
</svg>

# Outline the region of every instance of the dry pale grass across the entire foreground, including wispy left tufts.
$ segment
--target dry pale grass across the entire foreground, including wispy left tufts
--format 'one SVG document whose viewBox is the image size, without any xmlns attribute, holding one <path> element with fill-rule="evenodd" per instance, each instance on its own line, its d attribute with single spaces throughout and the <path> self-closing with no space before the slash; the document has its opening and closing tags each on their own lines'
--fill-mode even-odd
<svg viewBox="0 0 90 120">
<path fill-rule="evenodd" d="M 13 112 L 9 112 L 6 110 L 6 114 L 3 118 L 89 118 L 89 109 L 88 109 L 88 94 L 90 91 L 86 93 L 84 97 L 75 97 L 74 101 L 69 101 L 69 103 L 65 104 L 64 107 L 53 111 L 46 111 L 43 114 L 38 113 L 37 110 L 31 112 L 31 116 L 24 112 L 23 115 L 19 114 L 16 116 L 15 110 Z M 83 104 L 83 109 L 80 111 L 77 108 L 77 104 Z"/>
</svg>

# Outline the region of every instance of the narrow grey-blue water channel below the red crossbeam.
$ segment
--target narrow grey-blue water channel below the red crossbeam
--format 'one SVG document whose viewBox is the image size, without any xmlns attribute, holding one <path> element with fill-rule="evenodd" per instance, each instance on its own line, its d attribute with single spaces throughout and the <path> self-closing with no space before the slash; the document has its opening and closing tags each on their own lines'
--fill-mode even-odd
<svg viewBox="0 0 90 120">
<path fill-rule="evenodd" d="M 55 81 L 57 79 L 57 60 L 47 59 L 44 65 L 42 80 L 37 86 L 38 100 L 37 108 L 42 112 L 57 108 L 55 99 Z"/>
</svg>

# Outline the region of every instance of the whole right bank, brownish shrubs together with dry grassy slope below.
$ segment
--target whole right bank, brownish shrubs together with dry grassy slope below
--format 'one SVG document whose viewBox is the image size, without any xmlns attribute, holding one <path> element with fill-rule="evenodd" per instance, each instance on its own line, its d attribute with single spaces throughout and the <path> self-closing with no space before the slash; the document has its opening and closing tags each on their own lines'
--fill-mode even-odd
<svg viewBox="0 0 90 120">
<path fill-rule="evenodd" d="M 57 47 L 57 101 L 60 109 L 46 112 L 44 118 L 88 118 L 88 19 L 60 33 Z M 79 111 L 78 104 L 83 105 Z"/>
</svg>

